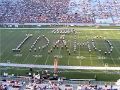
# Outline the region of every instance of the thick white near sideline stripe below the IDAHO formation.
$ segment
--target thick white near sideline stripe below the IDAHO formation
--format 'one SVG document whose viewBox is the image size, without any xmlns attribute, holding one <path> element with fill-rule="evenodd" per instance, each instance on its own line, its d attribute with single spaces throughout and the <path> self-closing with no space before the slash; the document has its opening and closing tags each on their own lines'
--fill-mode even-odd
<svg viewBox="0 0 120 90">
<path fill-rule="evenodd" d="M 54 68 L 53 65 L 35 65 L 35 64 L 16 64 L 16 63 L 0 63 L 3 67 L 26 67 L 26 68 Z M 58 66 L 58 69 L 79 69 L 79 70 L 107 70 L 114 71 L 120 70 L 120 67 L 95 67 L 95 66 Z"/>
</svg>

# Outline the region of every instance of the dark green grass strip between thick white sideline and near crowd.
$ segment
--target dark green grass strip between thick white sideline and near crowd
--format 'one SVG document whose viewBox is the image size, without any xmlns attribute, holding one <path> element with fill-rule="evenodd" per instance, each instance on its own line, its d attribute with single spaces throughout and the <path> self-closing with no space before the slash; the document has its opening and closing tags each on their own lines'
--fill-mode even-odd
<svg viewBox="0 0 120 90">
<path fill-rule="evenodd" d="M 29 68 L 14 68 L 14 67 L 0 67 L 0 75 L 7 72 L 9 75 L 15 76 L 27 76 Z M 42 74 L 42 71 L 46 69 L 33 68 L 31 73 Z M 53 69 L 47 69 L 50 76 L 53 76 Z M 65 77 L 67 79 L 95 79 L 96 81 L 114 81 L 116 82 L 120 78 L 120 71 L 96 71 L 96 70 L 62 70 L 59 69 L 59 77 Z"/>
</svg>

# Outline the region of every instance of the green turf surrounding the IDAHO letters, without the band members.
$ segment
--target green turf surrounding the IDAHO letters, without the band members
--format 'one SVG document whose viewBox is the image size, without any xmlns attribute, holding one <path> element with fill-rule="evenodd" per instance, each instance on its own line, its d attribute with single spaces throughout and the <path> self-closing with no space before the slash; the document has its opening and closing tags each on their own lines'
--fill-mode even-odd
<svg viewBox="0 0 120 90">
<path fill-rule="evenodd" d="M 0 62 L 11 63 L 25 63 L 25 64 L 47 64 L 53 65 L 54 56 L 59 56 L 59 65 L 75 65 L 75 66 L 120 66 L 120 30 L 88 30 L 87 28 L 77 28 L 77 34 L 66 34 L 65 40 L 71 51 L 71 55 L 68 55 L 65 47 L 63 49 L 56 48 L 53 52 L 48 54 L 48 50 L 51 49 L 54 42 L 56 42 L 61 34 L 53 34 L 52 29 L 0 29 L 1 31 L 1 59 Z M 26 37 L 26 34 L 33 34 L 33 36 L 23 45 L 20 53 L 12 52 L 13 48 Z M 38 36 L 45 35 L 50 44 L 44 50 L 37 50 L 36 52 L 29 52 L 29 48 Z M 92 47 L 91 40 L 95 36 L 102 36 L 102 38 L 96 38 L 95 43 L 98 49 L 102 52 L 95 51 Z M 77 39 L 77 43 L 90 42 L 92 52 L 88 52 L 86 46 L 77 46 L 76 53 L 73 52 L 74 37 Z M 104 37 L 110 40 L 113 45 L 113 52 L 111 55 L 104 55 L 104 51 L 109 49 L 108 44 L 104 41 Z M 36 48 L 46 43 L 44 39 L 41 39 Z"/>
</svg>

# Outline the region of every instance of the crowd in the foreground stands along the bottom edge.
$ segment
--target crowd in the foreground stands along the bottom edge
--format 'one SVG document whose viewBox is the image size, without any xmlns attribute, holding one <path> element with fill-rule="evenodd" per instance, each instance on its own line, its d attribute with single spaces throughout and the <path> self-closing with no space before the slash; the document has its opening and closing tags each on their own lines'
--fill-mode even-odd
<svg viewBox="0 0 120 90">
<path fill-rule="evenodd" d="M 0 82 L 0 90 L 119 90 L 119 88 L 116 85 L 60 84 L 58 81 L 26 83 L 17 80 L 7 80 Z"/>
</svg>

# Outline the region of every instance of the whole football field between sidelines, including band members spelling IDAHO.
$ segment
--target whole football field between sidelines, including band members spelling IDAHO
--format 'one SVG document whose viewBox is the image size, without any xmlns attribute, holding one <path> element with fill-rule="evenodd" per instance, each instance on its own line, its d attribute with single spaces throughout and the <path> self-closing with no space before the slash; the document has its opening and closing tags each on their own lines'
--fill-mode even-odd
<svg viewBox="0 0 120 90">
<path fill-rule="evenodd" d="M 120 30 L 0 29 L 0 63 L 120 66 Z"/>
</svg>

